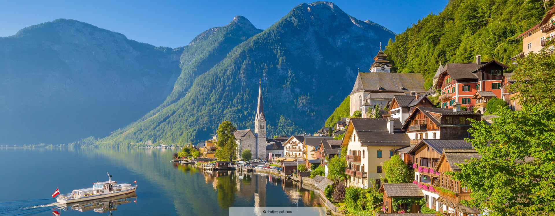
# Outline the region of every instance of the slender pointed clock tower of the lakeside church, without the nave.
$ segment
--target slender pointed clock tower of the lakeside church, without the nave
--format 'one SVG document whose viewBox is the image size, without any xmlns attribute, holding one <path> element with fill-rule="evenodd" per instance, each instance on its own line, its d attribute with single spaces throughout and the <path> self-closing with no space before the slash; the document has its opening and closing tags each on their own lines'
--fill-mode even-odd
<svg viewBox="0 0 555 216">
<path fill-rule="evenodd" d="M 262 103 L 262 83 L 259 82 L 258 87 L 258 104 L 256 105 L 256 114 L 254 117 L 254 134 L 256 136 L 255 151 L 253 158 L 266 158 L 266 117 L 264 116 L 264 106 Z"/>
</svg>

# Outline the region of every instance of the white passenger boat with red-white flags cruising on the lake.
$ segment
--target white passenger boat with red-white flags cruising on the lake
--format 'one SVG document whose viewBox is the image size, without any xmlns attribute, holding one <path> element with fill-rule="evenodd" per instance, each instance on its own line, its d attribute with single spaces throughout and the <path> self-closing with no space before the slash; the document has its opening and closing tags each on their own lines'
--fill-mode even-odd
<svg viewBox="0 0 555 216">
<path fill-rule="evenodd" d="M 56 201 L 58 201 L 58 203 L 89 201 L 92 199 L 102 199 L 133 193 L 135 189 L 137 189 L 137 185 L 128 183 L 118 184 L 118 182 L 112 181 L 112 176 L 108 173 L 108 181 L 94 182 L 93 187 L 74 189 L 71 193 L 59 194 L 58 197 L 56 197 Z"/>
</svg>

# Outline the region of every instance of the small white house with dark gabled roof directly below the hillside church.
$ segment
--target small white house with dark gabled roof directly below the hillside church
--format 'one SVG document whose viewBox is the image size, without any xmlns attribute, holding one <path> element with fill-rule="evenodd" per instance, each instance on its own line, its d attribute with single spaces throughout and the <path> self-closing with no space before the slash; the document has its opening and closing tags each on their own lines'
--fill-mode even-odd
<svg viewBox="0 0 555 216">
<path fill-rule="evenodd" d="M 391 118 L 400 119 L 402 123 L 408 118 L 412 111 L 420 107 L 433 107 L 433 103 L 427 97 L 421 97 L 420 93 L 412 95 L 396 95 L 389 105 L 389 114 Z"/>
</svg>

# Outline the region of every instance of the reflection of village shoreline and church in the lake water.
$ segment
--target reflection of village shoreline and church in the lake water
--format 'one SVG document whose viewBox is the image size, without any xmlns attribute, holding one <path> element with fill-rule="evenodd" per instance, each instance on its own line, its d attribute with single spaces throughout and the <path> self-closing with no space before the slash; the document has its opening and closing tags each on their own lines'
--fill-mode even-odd
<svg viewBox="0 0 555 216">
<path fill-rule="evenodd" d="M 233 205 L 235 198 L 254 198 L 254 207 L 283 206 L 285 203 L 275 203 L 276 199 L 273 199 L 273 196 L 279 194 L 282 196 L 282 193 L 269 192 L 268 186 L 270 185 L 275 186 L 272 188 L 281 186 L 291 206 L 321 206 L 313 186 L 285 180 L 282 176 L 235 170 L 203 171 L 196 168 L 196 165 L 178 163 L 175 163 L 174 167 L 183 172 L 199 172 L 203 175 L 205 183 L 212 185 L 214 190 L 218 191 L 218 201 L 223 208 L 237 207 Z M 266 201 L 266 198 L 269 198 L 270 201 Z"/>
</svg>

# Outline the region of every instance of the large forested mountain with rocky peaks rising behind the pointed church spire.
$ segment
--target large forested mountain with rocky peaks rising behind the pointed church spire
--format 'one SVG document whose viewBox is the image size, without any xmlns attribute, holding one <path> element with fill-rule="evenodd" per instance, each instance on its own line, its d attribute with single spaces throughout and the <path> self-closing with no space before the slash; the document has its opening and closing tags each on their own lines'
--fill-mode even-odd
<svg viewBox="0 0 555 216">
<path fill-rule="evenodd" d="M 220 52 L 196 62 L 201 66 L 191 66 L 188 62 L 194 61 L 187 57 L 201 50 L 182 55 L 180 78 L 163 106 L 100 142 L 199 141 L 209 138 L 223 120 L 238 129 L 251 128 L 259 81 L 269 136 L 314 132 L 323 126 L 317 122 L 324 122 L 349 94 L 359 68 L 365 71 L 374 61 L 380 43 L 395 36 L 330 2 L 299 4 L 258 34 L 247 21 L 241 22 L 241 32 L 253 36 L 245 35 L 221 60 L 224 48 L 211 46 L 217 49 L 206 52 Z M 199 43 L 191 44 L 205 46 L 203 34 Z"/>
</svg>

